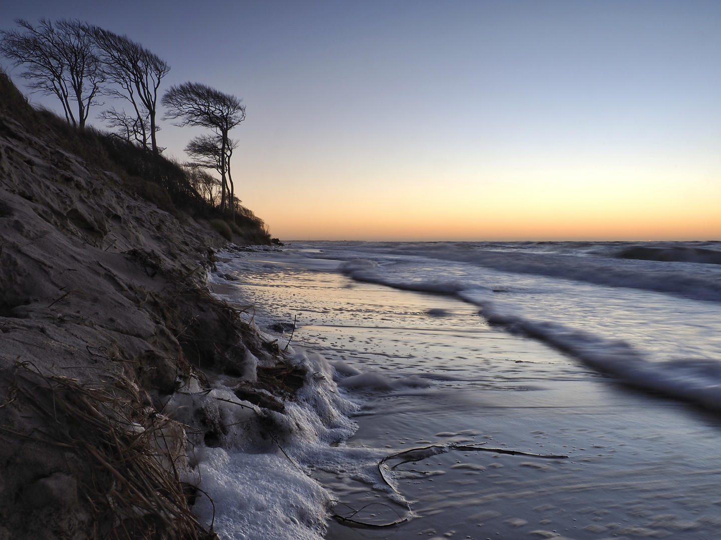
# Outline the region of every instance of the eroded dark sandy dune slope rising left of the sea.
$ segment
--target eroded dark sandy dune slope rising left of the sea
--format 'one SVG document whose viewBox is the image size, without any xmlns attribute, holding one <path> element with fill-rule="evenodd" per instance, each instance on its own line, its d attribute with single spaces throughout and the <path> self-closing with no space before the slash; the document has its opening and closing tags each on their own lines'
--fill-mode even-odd
<svg viewBox="0 0 721 540">
<path fill-rule="evenodd" d="M 228 246 L 208 222 L 66 150 L 65 127 L 2 90 L 0 538 L 215 537 L 190 509 L 190 450 L 222 426 L 180 423 L 169 397 L 234 380 L 270 440 L 306 371 L 208 292 Z"/>
</svg>

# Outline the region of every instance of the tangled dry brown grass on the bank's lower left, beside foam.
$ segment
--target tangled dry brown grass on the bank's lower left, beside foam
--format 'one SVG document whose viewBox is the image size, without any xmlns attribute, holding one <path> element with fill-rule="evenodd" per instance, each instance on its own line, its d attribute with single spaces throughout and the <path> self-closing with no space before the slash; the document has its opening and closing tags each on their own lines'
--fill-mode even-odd
<svg viewBox="0 0 721 540">
<path fill-rule="evenodd" d="M 143 408 L 133 382 L 114 375 L 89 386 L 43 376 L 26 363 L 16 365 L 14 377 L 14 394 L 44 427 L 30 436 L 0 430 L 70 451 L 88 465 L 79 472 L 79 487 L 92 513 L 92 538 L 217 539 L 190 511 L 180 478 L 183 456 L 167 436 L 171 420 Z"/>
</svg>

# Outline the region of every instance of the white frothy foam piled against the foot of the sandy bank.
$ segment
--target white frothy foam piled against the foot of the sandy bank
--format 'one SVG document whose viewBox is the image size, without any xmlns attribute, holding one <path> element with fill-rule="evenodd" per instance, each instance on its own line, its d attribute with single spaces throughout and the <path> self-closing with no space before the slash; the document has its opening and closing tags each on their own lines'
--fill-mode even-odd
<svg viewBox="0 0 721 540">
<path fill-rule="evenodd" d="M 286 402 L 285 413 L 260 410 L 222 384 L 203 390 L 195 381 L 165 405 L 166 413 L 183 423 L 192 426 L 202 418 L 205 428 L 222 433 L 221 447 L 195 448 L 188 479 L 208 495 L 198 498 L 194 513 L 208 526 L 214 523 L 221 539 L 321 539 L 332 500 L 309 477 L 320 456 L 327 469 L 356 467 L 359 480 L 378 482 L 363 465 L 372 460 L 331 446 L 353 434 L 348 415 L 358 408 L 340 396 L 333 381 L 337 368 L 318 354 L 289 351 L 309 377 L 296 400 Z M 352 372 L 350 366 L 345 372 Z M 368 458 L 373 451 L 361 454 Z"/>
</svg>

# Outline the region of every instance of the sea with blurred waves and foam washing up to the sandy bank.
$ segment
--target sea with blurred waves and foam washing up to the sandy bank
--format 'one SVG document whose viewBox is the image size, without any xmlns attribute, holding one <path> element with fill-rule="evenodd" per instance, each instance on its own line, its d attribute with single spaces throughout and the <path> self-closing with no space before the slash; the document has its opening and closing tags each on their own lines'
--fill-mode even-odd
<svg viewBox="0 0 721 540">
<path fill-rule="evenodd" d="M 271 442 L 213 381 L 221 539 L 721 537 L 721 242 L 218 257 L 211 291 L 309 373 Z"/>
</svg>

